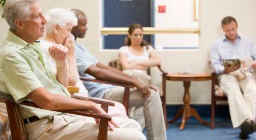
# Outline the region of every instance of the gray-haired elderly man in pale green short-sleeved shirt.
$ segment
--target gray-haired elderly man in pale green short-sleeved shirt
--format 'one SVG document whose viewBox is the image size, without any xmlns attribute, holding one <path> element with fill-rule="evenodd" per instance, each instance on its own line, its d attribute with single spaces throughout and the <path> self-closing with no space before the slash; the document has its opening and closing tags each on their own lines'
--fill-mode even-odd
<svg viewBox="0 0 256 140">
<path fill-rule="evenodd" d="M 93 118 L 46 110 L 86 109 L 106 114 L 93 102 L 70 98 L 66 90 L 67 48 L 49 48 L 55 68 L 36 41 L 45 31 L 42 12 L 37 0 L 6 2 L 4 17 L 10 30 L 0 48 L 0 90 L 13 96 L 17 103 L 31 100 L 43 108 L 20 105 L 28 139 L 97 139 L 98 124 Z M 112 120 L 116 123 L 110 122 L 108 139 L 145 139 L 136 121 Z"/>
</svg>

